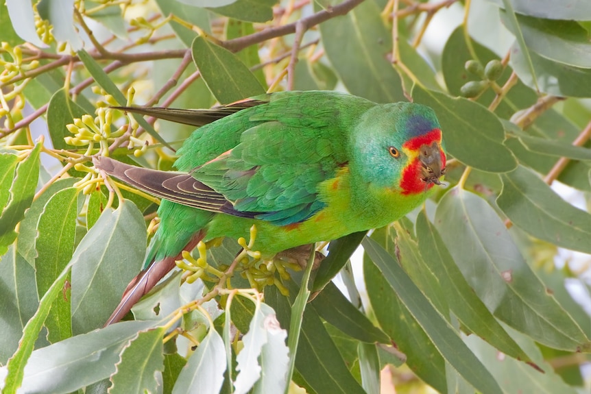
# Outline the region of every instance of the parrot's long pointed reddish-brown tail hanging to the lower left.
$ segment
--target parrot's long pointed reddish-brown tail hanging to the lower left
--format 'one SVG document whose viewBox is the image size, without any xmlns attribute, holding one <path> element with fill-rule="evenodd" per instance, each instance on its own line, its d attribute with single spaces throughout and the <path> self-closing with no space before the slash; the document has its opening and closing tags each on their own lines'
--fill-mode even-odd
<svg viewBox="0 0 591 394">
<path fill-rule="evenodd" d="M 197 232 L 197 234 L 191 238 L 191 241 L 182 248 L 182 251 L 191 251 L 197 243 L 203 239 L 204 235 L 204 231 Z M 128 288 L 125 289 L 125 293 L 123 293 L 123 297 L 121 297 L 121 302 L 119 302 L 117 308 L 115 308 L 112 315 L 107 319 L 105 327 L 123 319 L 137 301 L 152 290 L 152 288 L 160 282 L 160 279 L 164 278 L 165 275 L 176 266 L 175 260 L 180 260 L 180 258 L 182 258 L 182 251 L 180 251 L 177 256 L 165 257 L 162 258 L 162 260 L 155 261 L 150 264 L 147 269 L 138 273 L 130 284 L 128 284 Z"/>
</svg>

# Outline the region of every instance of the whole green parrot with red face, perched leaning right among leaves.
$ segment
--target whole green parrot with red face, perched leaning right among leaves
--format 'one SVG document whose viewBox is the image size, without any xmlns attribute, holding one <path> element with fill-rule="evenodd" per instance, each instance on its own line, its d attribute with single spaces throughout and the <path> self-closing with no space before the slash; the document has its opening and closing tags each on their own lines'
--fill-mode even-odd
<svg viewBox="0 0 591 394">
<path fill-rule="evenodd" d="M 254 224 L 252 249 L 273 258 L 396 221 L 445 173 L 437 117 L 415 103 L 289 91 L 210 110 L 121 109 L 202 127 L 178 150 L 180 172 L 94 159 L 101 171 L 162 199 L 144 269 L 106 324 L 199 241 L 248 239 Z"/>
</svg>

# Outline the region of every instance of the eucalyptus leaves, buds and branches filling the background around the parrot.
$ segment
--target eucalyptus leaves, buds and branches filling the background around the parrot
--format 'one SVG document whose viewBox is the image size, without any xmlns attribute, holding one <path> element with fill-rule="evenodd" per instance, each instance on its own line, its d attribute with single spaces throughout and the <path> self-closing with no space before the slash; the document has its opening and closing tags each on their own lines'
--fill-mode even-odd
<svg viewBox="0 0 591 394">
<path fill-rule="evenodd" d="M 0 3 L 2 393 L 590 389 L 591 3 Z M 195 251 L 101 328 L 158 200 L 91 156 L 171 169 L 193 130 L 110 107 L 315 89 L 433 107 L 446 187 L 317 271 Z"/>
</svg>

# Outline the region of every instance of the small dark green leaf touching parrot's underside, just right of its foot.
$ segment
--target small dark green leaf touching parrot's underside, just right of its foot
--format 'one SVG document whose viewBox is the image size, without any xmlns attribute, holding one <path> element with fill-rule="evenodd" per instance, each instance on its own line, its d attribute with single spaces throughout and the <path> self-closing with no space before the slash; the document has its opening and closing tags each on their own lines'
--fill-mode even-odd
<svg viewBox="0 0 591 394">
<path fill-rule="evenodd" d="M 322 291 L 324 286 L 335 278 L 335 275 L 341 271 L 341 268 L 347 264 L 353 252 L 359 247 L 365 234 L 367 234 L 366 231 L 354 232 L 335 239 L 335 241 L 330 241 L 328 256 L 322 260 L 322 264 L 318 267 L 314 277 L 312 286 L 314 293 Z"/>
</svg>

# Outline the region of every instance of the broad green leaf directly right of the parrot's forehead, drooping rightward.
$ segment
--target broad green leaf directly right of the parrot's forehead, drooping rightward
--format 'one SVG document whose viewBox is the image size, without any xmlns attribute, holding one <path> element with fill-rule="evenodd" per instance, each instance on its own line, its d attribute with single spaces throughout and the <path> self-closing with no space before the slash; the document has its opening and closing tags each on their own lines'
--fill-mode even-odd
<svg viewBox="0 0 591 394">
<path fill-rule="evenodd" d="M 482 171 L 502 173 L 515 169 L 516 160 L 503 145 L 503 125 L 485 107 L 419 86 L 413 89 L 413 99 L 435 110 L 446 148 L 454 158 Z"/>
</svg>

